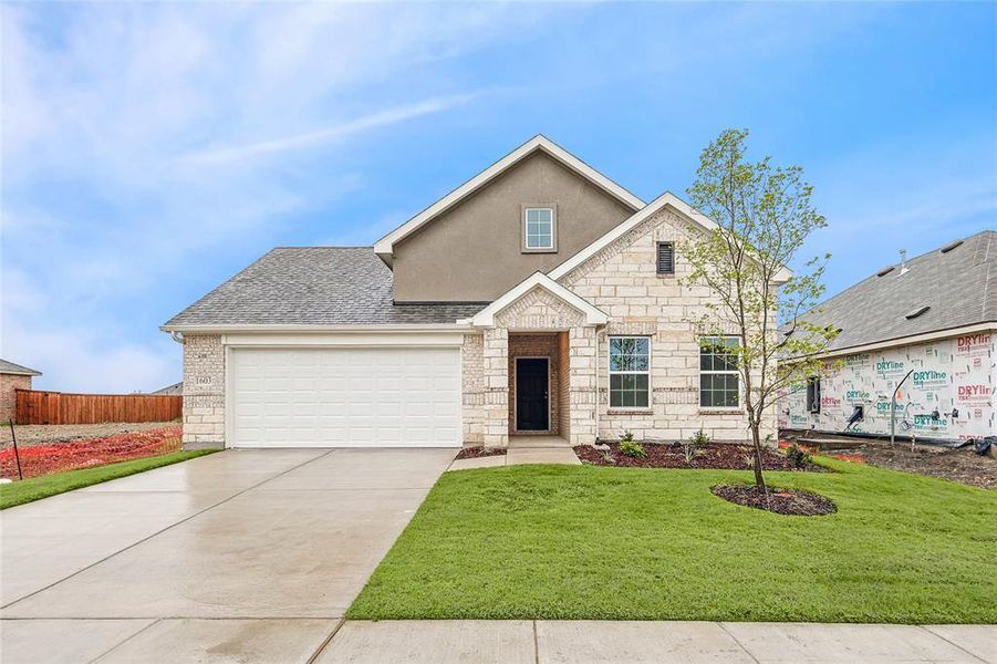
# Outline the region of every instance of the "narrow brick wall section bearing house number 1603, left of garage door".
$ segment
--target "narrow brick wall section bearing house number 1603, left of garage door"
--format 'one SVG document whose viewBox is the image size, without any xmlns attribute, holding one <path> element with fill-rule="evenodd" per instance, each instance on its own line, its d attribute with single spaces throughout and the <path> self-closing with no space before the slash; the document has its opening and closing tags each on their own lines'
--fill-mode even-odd
<svg viewBox="0 0 997 664">
<path fill-rule="evenodd" d="M 218 334 L 184 336 L 184 447 L 225 446 L 225 347 Z"/>
</svg>

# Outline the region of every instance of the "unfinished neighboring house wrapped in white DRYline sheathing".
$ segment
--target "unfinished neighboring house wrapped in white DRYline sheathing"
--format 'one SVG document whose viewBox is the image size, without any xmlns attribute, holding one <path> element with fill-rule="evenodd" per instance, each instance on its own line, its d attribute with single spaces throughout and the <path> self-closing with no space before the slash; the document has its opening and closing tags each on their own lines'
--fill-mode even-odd
<svg viewBox="0 0 997 664">
<path fill-rule="evenodd" d="M 997 434 L 997 232 L 902 258 L 807 318 L 841 332 L 829 374 L 780 400 L 781 429 L 889 435 L 894 411 L 897 436 Z"/>
</svg>

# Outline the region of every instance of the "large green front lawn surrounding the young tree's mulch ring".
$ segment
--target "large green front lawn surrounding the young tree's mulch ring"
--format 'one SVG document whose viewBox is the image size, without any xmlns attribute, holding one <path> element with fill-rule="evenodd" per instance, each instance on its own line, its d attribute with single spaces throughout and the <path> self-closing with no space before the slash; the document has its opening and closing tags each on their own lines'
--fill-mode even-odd
<svg viewBox="0 0 997 664">
<path fill-rule="evenodd" d="M 733 470 L 445 473 L 347 618 L 997 622 L 997 494 L 821 463 L 768 478 L 824 517 L 712 495 Z"/>
</svg>

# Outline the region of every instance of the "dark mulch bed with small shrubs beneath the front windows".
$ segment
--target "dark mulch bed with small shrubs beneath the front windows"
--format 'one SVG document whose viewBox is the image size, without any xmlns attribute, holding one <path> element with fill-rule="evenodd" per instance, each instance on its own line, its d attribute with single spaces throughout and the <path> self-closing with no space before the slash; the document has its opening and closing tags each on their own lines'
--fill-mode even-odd
<svg viewBox="0 0 997 664">
<path fill-rule="evenodd" d="M 703 445 L 696 450 L 696 457 L 690 464 L 685 463 L 682 445 L 679 443 L 672 444 L 653 444 L 644 443 L 644 452 L 647 453 L 645 458 L 638 459 L 625 456 L 620 453 L 619 443 L 610 443 L 609 454 L 612 460 L 603 457 L 603 452 L 595 449 L 590 445 L 579 445 L 574 448 L 578 458 L 583 463 L 596 466 L 622 466 L 634 468 L 700 468 L 714 470 L 748 470 L 748 461 L 746 457 L 754 457 L 754 452 L 747 445 L 730 445 L 723 443 L 712 443 Z M 798 468 L 775 449 L 765 449 L 762 452 L 762 467 L 765 470 L 806 470 L 809 473 L 824 473 L 827 468 L 817 464 L 807 464 L 802 468 Z"/>
</svg>

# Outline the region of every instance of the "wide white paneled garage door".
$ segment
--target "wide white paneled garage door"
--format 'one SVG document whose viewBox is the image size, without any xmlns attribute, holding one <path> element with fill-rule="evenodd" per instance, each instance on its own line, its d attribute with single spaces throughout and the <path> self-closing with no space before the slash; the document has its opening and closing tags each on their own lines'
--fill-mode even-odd
<svg viewBox="0 0 997 664">
<path fill-rule="evenodd" d="M 235 447 L 460 445 L 457 349 L 236 349 Z"/>
</svg>

